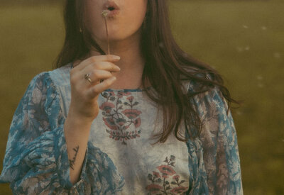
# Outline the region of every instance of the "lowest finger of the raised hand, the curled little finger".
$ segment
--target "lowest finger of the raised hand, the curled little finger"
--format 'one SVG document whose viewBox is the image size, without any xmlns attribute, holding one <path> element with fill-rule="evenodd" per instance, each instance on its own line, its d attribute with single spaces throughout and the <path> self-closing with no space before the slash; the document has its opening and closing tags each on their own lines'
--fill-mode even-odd
<svg viewBox="0 0 284 195">
<path fill-rule="evenodd" d="M 109 79 L 105 79 L 104 82 L 101 82 L 99 84 L 96 84 L 92 87 L 90 87 L 87 90 L 87 96 L 90 99 L 94 99 L 94 97 L 98 96 L 102 91 L 109 89 L 111 84 L 113 84 L 116 80 L 116 77 L 110 77 Z"/>
</svg>

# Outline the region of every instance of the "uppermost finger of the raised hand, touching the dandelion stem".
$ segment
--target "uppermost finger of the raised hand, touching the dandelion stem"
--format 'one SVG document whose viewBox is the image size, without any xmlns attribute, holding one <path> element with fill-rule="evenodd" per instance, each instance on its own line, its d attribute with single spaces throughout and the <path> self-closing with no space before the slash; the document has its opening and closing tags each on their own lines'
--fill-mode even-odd
<svg viewBox="0 0 284 195">
<path fill-rule="evenodd" d="M 88 65 L 94 64 L 94 63 L 101 63 L 101 62 L 118 62 L 120 60 L 120 57 L 117 55 L 95 55 L 92 57 L 87 58 L 86 60 L 82 61 L 79 65 L 74 67 L 74 69 L 82 70 Z"/>
</svg>

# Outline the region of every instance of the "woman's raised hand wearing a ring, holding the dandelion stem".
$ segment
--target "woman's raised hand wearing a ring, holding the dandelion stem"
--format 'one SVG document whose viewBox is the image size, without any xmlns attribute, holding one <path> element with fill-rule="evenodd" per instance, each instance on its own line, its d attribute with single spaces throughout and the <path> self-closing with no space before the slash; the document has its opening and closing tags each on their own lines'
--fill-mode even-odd
<svg viewBox="0 0 284 195">
<path fill-rule="evenodd" d="M 99 94 L 114 83 L 116 77 L 111 72 L 120 68 L 114 62 L 120 60 L 116 55 L 97 55 L 87 58 L 70 71 L 71 104 L 68 113 L 83 121 L 92 122 L 99 113 L 97 99 Z M 89 74 L 92 82 L 84 79 Z M 100 83 L 100 80 L 104 79 Z"/>
</svg>

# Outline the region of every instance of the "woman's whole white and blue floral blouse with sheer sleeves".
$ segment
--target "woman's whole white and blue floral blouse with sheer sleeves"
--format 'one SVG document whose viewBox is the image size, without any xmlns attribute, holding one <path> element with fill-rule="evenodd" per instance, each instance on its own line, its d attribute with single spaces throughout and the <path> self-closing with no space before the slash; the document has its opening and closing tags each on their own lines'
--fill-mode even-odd
<svg viewBox="0 0 284 195">
<path fill-rule="evenodd" d="M 217 87 L 192 101 L 204 125 L 200 138 L 185 143 L 172 134 L 155 145 L 163 112 L 144 89 L 103 91 L 72 184 L 63 126 L 71 68 L 37 74 L 16 108 L 0 175 L 13 194 L 243 194 L 234 121 Z M 182 125 L 180 132 L 186 136 Z"/>
</svg>

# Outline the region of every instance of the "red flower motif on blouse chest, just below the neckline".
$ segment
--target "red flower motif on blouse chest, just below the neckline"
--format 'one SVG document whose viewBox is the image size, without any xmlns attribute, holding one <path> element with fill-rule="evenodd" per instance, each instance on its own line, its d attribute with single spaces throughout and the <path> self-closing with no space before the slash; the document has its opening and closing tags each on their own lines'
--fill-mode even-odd
<svg viewBox="0 0 284 195">
<path fill-rule="evenodd" d="M 118 91 L 116 95 L 114 91 L 109 94 L 104 92 L 107 101 L 99 106 L 102 110 L 103 121 L 109 128 L 106 129 L 109 138 L 119 140 L 124 145 L 126 145 L 126 140 L 139 138 L 141 133 L 141 130 L 128 130 L 131 125 L 134 128 L 141 126 L 140 115 L 142 113 L 134 108 L 139 103 L 134 102 L 134 97 L 130 95 L 130 92 L 123 91 Z M 127 101 L 121 101 L 123 96 L 128 96 Z"/>
</svg>

